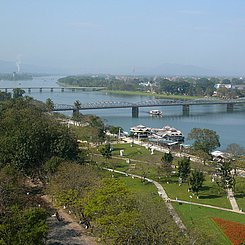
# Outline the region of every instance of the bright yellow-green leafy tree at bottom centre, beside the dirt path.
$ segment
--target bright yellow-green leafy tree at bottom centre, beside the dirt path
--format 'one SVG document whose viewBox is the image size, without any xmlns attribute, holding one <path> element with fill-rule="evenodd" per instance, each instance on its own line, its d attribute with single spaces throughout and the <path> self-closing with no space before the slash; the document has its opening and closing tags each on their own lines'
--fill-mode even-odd
<svg viewBox="0 0 245 245">
<path fill-rule="evenodd" d="M 117 244 L 131 240 L 139 215 L 132 194 L 121 181 L 104 180 L 99 189 L 87 196 L 85 203 L 84 214 L 95 222 L 103 240 Z"/>
</svg>

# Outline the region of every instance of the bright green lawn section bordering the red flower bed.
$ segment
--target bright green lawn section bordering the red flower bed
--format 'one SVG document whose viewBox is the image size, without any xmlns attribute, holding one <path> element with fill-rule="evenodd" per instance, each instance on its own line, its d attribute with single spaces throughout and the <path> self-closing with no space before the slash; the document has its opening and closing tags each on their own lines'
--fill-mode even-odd
<svg viewBox="0 0 245 245">
<path fill-rule="evenodd" d="M 173 206 L 187 228 L 190 230 L 198 228 L 199 231 L 202 231 L 203 234 L 207 235 L 207 238 L 210 237 L 211 239 L 215 239 L 214 242 L 210 244 L 231 244 L 220 228 L 212 221 L 212 217 L 218 217 L 224 220 L 245 224 L 245 215 L 189 204 L 180 205 L 174 203 Z"/>
</svg>

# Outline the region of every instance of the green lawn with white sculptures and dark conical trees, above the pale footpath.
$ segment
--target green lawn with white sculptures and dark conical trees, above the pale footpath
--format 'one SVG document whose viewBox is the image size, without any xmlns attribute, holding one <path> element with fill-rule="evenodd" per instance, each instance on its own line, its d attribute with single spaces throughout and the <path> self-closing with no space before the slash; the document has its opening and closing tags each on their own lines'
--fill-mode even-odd
<svg viewBox="0 0 245 245">
<path fill-rule="evenodd" d="M 125 171 L 129 173 L 134 173 L 138 175 L 145 175 L 148 178 L 159 181 L 165 188 L 167 194 L 170 198 L 175 199 L 176 197 L 180 200 L 190 201 L 190 195 L 188 192 L 188 184 L 183 183 L 181 186 L 178 184 L 178 179 L 175 176 L 171 177 L 169 184 L 166 182 L 166 177 L 164 174 L 161 175 L 161 179 L 158 179 L 159 176 L 159 165 L 161 163 L 161 157 L 163 153 L 155 152 L 151 155 L 150 151 L 145 147 L 137 146 L 131 147 L 130 144 L 115 144 L 113 145 L 113 158 L 108 161 L 108 166 L 113 167 L 120 171 Z M 120 150 L 124 149 L 125 156 L 123 159 L 120 159 Z M 130 169 L 130 164 L 126 163 L 126 159 L 131 159 L 131 165 L 134 165 L 134 168 Z M 136 161 L 133 161 L 136 160 Z M 245 210 L 245 198 L 244 198 L 244 186 L 245 180 L 239 179 L 237 181 L 237 202 L 239 207 Z M 206 180 L 203 183 L 203 188 L 199 192 L 199 199 L 195 196 L 191 199 L 192 202 L 203 203 L 223 208 L 231 208 L 230 202 L 227 199 L 227 195 L 224 191 L 219 190 L 216 183 L 212 183 L 209 176 L 206 176 Z"/>
</svg>

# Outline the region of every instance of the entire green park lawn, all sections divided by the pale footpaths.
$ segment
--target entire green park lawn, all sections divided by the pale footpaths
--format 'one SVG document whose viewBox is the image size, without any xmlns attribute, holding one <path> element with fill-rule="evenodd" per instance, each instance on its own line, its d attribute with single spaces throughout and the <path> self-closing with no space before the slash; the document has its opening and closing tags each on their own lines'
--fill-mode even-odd
<svg viewBox="0 0 245 245">
<path fill-rule="evenodd" d="M 114 165 L 115 169 L 135 173 L 138 175 L 146 174 L 148 178 L 152 178 L 160 182 L 170 198 L 179 200 L 198 202 L 203 204 L 209 204 L 218 207 L 231 208 L 230 202 L 227 199 L 226 193 L 218 189 L 216 183 L 211 182 L 211 178 L 206 175 L 203 188 L 199 193 L 199 199 L 193 194 L 188 192 L 188 184 L 183 183 L 181 186 L 178 184 L 178 178 L 176 175 L 172 176 L 167 183 L 166 178 L 161 177 L 158 179 L 158 167 L 161 164 L 161 157 L 163 153 L 155 152 L 151 155 L 148 149 L 135 145 L 130 147 L 129 144 L 115 144 L 113 145 L 113 156 L 116 157 L 110 159 L 110 164 Z M 119 151 L 124 149 L 125 156 L 120 158 Z M 126 163 L 126 159 L 131 159 L 131 164 Z M 135 160 L 135 161 L 133 161 Z M 101 161 L 101 157 L 100 157 Z M 130 165 L 135 164 L 133 169 L 130 169 Z M 118 175 L 119 176 L 119 175 Z M 138 193 L 148 193 L 148 197 L 157 195 L 157 191 L 154 185 L 142 183 L 141 180 L 132 179 L 130 177 L 120 177 L 124 179 L 127 186 L 130 189 Z M 245 179 L 236 178 L 236 200 L 240 208 L 245 210 Z M 192 198 L 190 198 L 190 195 Z M 201 231 L 201 233 L 210 239 L 212 245 L 229 245 L 231 242 L 211 219 L 212 217 L 222 218 L 224 220 L 230 220 L 245 224 L 245 215 L 236 214 L 232 212 L 220 211 L 211 208 L 199 207 L 189 204 L 177 204 L 173 203 L 175 210 L 179 213 L 184 224 L 189 230 Z"/>
</svg>

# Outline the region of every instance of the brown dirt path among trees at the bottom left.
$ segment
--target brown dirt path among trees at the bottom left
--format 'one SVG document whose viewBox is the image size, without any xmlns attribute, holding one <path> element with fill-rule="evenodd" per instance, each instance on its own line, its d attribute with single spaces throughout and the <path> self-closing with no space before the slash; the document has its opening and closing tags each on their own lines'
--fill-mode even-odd
<svg viewBox="0 0 245 245">
<path fill-rule="evenodd" d="M 48 196 L 42 199 L 52 206 Z M 49 233 L 47 237 L 48 245 L 97 245 L 96 238 L 89 236 L 87 230 L 80 226 L 74 218 L 64 209 L 57 210 L 61 221 L 56 215 L 48 218 Z"/>
</svg>

